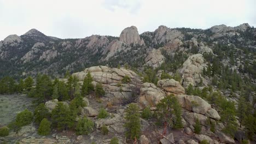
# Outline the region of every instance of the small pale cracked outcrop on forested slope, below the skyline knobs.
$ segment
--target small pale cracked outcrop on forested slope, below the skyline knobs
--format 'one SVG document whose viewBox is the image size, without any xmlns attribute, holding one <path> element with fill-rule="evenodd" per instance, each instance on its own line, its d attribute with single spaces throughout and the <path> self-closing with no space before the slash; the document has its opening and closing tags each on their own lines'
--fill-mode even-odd
<svg viewBox="0 0 256 144">
<path fill-rule="evenodd" d="M 148 52 L 148 56 L 145 59 L 146 65 L 149 65 L 154 69 L 160 67 L 164 61 L 165 57 L 161 54 L 159 49 L 153 49 L 152 51 Z"/>
</svg>

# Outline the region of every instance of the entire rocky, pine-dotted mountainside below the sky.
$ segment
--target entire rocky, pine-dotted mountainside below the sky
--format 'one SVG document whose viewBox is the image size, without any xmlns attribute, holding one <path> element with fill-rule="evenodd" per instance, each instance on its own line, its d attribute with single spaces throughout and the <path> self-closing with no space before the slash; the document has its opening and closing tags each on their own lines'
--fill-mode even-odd
<svg viewBox="0 0 256 144">
<path fill-rule="evenodd" d="M 255 143 L 255 54 L 248 23 L 9 35 L 0 143 Z"/>
</svg>

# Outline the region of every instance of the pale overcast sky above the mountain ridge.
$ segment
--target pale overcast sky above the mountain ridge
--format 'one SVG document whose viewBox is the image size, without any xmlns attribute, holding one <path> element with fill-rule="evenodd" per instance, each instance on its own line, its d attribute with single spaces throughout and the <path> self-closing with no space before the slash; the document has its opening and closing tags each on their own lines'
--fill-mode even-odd
<svg viewBox="0 0 256 144">
<path fill-rule="evenodd" d="M 0 40 L 32 28 L 58 38 L 92 34 L 120 35 L 136 26 L 139 33 L 214 25 L 256 27 L 255 0 L 0 0 Z"/>
</svg>

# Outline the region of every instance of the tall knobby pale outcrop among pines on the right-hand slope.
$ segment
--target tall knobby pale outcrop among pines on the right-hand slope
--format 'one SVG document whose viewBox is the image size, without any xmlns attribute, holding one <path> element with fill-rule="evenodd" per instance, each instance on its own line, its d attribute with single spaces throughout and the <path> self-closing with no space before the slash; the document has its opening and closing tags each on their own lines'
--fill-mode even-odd
<svg viewBox="0 0 256 144">
<path fill-rule="evenodd" d="M 190 84 L 195 86 L 202 79 L 201 73 L 203 67 L 206 67 L 202 54 L 196 54 L 190 56 L 184 63 L 183 67 L 179 69 L 179 73 L 182 74 L 182 85 L 188 87 Z"/>
</svg>

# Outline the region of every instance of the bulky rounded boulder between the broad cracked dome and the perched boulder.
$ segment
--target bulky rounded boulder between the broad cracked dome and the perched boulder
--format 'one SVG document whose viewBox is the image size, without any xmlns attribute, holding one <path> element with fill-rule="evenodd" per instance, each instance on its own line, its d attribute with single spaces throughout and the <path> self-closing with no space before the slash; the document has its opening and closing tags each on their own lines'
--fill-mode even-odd
<svg viewBox="0 0 256 144">
<path fill-rule="evenodd" d="M 164 97 L 165 93 L 160 88 L 156 87 L 154 83 L 146 82 L 141 87 L 138 104 L 142 108 L 147 106 L 154 107 Z"/>
</svg>

